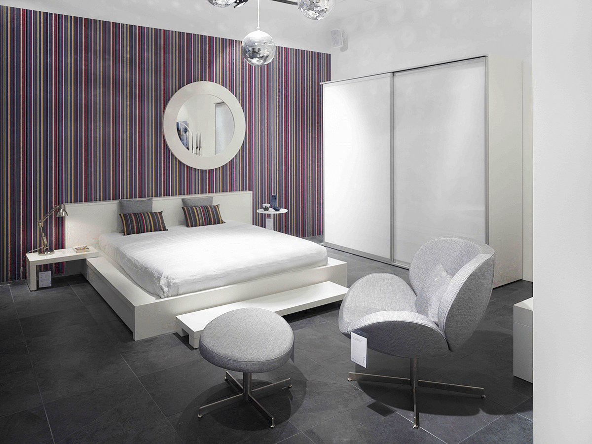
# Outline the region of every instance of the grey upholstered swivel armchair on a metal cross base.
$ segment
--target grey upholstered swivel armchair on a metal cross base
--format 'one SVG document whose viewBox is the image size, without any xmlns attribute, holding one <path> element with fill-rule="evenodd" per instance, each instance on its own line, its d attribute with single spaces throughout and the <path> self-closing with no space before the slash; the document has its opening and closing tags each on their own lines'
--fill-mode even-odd
<svg viewBox="0 0 592 444">
<path fill-rule="evenodd" d="M 491 296 L 494 251 L 469 239 L 441 237 L 424 244 L 409 268 L 411 287 L 378 273 L 350 287 L 339 311 L 339 329 L 368 334 L 368 348 L 410 358 L 410 378 L 350 373 L 349 380 L 394 382 L 413 387 L 413 427 L 419 427 L 417 387 L 481 395 L 480 387 L 421 381 L 419 358 L 444 356 L 471 337 Z"/>
</svg>

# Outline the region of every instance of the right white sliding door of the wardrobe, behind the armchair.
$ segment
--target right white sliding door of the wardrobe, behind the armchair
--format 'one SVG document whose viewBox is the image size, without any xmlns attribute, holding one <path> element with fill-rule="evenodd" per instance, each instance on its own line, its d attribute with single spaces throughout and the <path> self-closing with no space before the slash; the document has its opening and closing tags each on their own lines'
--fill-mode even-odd
<svg viewBox="0 0 592 444">
<path fill-rule="evenodd" d="M 485 59 L 394 78 L 394 258 L 448 234 L 485 242 Z"/>
</svg>

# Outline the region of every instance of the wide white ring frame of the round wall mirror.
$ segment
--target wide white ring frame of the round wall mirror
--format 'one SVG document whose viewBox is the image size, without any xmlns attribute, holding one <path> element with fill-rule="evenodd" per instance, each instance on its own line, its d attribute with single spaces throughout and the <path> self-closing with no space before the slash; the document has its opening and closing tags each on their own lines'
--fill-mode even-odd
<svg viewBox="0 0 592 444">
<path fill-rule="evenodd" d="M 228 146 L 215 156 L 201 157 L 189 152 L 181 143 L 177 133 L 177 116 L 186 101 L 197 94 L 210 94 L 222 99 L 230 108 L 234 119 L 234 133 Z M 213 82 L 193 82 L 175 92 L 166 104 L 162 120 L 162 130 L 166 144 L 175 157 L 186 165 L 197 169 L 214 169 L 226 165 L 236 156 L 244 140 L 244 112 L 238 99 L 228 89 Z"/>
</svg>

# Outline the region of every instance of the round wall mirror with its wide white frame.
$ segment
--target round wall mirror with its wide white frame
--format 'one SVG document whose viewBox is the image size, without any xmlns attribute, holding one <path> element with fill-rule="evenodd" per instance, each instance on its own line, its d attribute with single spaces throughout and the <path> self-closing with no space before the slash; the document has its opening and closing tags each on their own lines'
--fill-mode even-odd
<svg viewBox="0 0 592 444">
<path fill-rule="evenodd" d="M 237 98 L 213 82 L 185 85 L 170 98 L 163 118 L 166 144 L 186 165 L 218 168 L 239 152 L 244 113 Z"/>
</svg>

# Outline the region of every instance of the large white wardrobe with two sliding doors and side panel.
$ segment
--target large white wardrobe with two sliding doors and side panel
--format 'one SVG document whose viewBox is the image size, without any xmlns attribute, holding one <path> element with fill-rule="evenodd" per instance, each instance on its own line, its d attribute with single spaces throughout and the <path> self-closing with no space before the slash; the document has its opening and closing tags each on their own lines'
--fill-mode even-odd
<svg viewBox="0 0 592 444">
<path fill-rule="evenodd" d="M 522 63 L 481 56 L 323 83 L 324 244 L 409 266 L 462 236 L 522 278 Z"/>
</svg>

